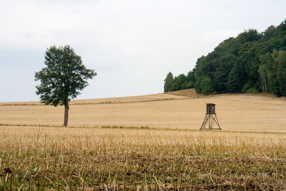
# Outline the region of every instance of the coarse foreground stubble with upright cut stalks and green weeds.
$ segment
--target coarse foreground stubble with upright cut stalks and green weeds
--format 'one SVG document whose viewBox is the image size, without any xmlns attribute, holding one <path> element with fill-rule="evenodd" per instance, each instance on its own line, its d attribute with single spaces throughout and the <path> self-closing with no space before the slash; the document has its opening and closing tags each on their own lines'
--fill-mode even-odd
<svg viewBox="0 0 286 191">
<path fill-rule="evenodd" d="M 285 143 L 284 133 L 1 126 L 0 189 L 285 190 Z"/>
</svg>

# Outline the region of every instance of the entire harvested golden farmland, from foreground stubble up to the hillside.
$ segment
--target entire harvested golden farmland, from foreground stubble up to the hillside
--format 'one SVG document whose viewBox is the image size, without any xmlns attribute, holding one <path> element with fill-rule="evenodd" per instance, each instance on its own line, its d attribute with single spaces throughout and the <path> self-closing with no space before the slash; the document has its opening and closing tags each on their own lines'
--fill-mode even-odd
<svg viewBox="0 0 286 191">
<path fill-rule="evenodd" d="M 285 99 L 175 94 L 0 103 L 0 190 L 286 190 Z"/>
</svg>

